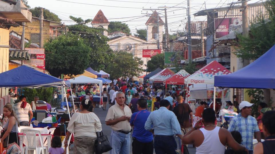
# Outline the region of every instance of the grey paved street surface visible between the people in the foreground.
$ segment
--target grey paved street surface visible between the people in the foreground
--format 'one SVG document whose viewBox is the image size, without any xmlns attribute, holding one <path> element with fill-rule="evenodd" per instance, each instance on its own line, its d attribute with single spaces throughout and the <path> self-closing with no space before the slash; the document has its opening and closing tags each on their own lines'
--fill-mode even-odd
<svg viewBox="0 0 275 154">
<path fill-rule="evenodd" d="M 109 106 L 109 105 L 108 105 Z M 102 124 L 102 131 L 104 135 L 108 136 L 108 139 L 110 139 L 110 135 L 111 135 L 111 127 L 107 126 L 105 124 L 105 117 L 107 115 L 108 110 L 103 111 L 102 108 L 95 108 L 94 109 L 94 113 L 99 117 L 101 124 Z M 177 141 L 177 139 L 176 139 Z M 178 142 L 178 141 L 177 141 Z M 190 154 L 195 154 L 195 148 L 192 147 L 192 145 L 188 146 L 188 150 Z M 73 153 L 72 151 L 70 151 L 70 154 Z M 109 152 L 107 152 L 106 154 L 108 154 Z M 132 148 L 130 150 L 130 153 L 132 153 Z"/>
</svg>

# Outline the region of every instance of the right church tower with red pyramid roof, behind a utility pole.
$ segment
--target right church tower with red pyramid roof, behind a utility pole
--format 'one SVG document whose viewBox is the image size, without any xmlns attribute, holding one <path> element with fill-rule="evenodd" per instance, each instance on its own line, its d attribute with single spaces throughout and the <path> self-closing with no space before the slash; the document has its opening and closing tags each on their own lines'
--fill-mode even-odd
<svg viewBox="0 0 275 154">
<path fill-rule="evenodd" d="M 158 27 L 159 27 L 159 42 L 162 42 L 163 35 L 163 25 L 164 22 L 159 17 L 159 22 L 157 24 L 157 11 L 155 10 L 150 18 L 146 21 L 145 25 L 147 26 L 147 42 L 155 42 L 158 40 Z M 158 26 L 159 25 L 159 26 Z"/>
</svg>

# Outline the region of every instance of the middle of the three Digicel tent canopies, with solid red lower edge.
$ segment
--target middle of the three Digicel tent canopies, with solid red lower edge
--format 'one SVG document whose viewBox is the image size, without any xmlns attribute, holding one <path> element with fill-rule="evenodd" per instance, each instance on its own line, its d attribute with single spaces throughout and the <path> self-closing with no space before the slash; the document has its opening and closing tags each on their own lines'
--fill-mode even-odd
<svg viewBox="0 0 275 154">
<path fill-rule="evenodd" d="M 165 80 L 165 88 L 167 88 L 167 84 L 184 85 L 184 79 L 188 76 L 190 76 L 190 74 L 184 69 L 178 71 L 176 74 Z"/>
</svg>

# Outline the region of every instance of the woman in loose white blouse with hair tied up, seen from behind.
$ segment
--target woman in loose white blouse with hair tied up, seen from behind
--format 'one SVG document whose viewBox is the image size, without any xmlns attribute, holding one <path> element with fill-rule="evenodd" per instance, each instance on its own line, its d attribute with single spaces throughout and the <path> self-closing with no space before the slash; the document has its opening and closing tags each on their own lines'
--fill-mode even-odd
<svg viewBox="0 0 275 154">
<path fill-rule="evenodd" d="M 101 123 L 97 115 L 87 111 L 92 102 L 88 99 L 82 100 L 80 112 L 72 115 L 67 127 L 64 144 L 68 145 L 71 133 L 74 133 L 74 154 L 94 154 L 96 132 L 102 131 Z"/>
</svg>

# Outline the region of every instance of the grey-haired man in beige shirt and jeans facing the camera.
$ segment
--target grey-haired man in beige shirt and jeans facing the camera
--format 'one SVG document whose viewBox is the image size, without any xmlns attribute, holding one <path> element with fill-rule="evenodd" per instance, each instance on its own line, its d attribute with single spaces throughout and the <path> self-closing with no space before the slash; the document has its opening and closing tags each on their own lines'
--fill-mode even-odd
<svg viewBox="0 0 275 154">
<path fill-rule="evenodd" d="M 116 104 L 109 108 L 105 122 L 112 128 L 110 144 L 113 148 L 110 154 L 129 154 L 131 145 L 131 109 L 124 104 L 125 94 L 117 92 Z"/>
</svg>

